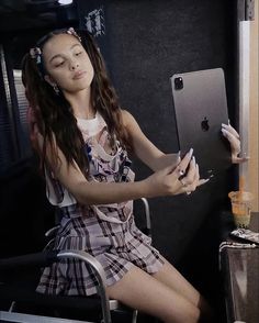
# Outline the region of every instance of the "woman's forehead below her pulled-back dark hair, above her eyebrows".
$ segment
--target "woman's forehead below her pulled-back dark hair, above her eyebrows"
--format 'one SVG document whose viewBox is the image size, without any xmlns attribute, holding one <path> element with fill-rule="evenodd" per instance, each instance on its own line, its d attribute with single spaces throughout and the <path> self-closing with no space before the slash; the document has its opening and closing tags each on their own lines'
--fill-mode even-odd
<svg viewBox="0 0 259 323">
<path fill-rule="evenodd" d="M 53 55 L 63 54 L 63 52 L 69 51 L 74 45 L 80 45 L 81 43 L 77 37 L 69 34 L 54 35 L 43 46 L 43 55 L 49 57 Z"/>
</svg>

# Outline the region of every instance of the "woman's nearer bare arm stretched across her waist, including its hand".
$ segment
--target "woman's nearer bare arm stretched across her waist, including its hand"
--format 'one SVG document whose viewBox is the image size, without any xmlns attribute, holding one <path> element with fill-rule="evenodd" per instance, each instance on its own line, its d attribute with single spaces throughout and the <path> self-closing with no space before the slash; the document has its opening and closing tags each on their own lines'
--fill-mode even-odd
<svg viewBox="0 0 259 323">
<path fill-rule="evenodd" d="M 43 137 L 38 133 L 38 145 L 43 147 Z M 47 147 L 47 163 L 55 177 L 81 204 L 119 203 L 138 198 L 154 198 L 191 192 L 202 185 L 199 167 L 192 157 L 192 151 L 176 166 L 169 166 L 154 172 L 144 180 L 135 182 L 95 182 L 88 181 L 77 164 L 67 163 L 65 155 L 57 147 L 59 163 L 56 167 L 50 149 Z M 188 168 L 189 166 L 189 168 Z M 184 178 L 179 177 L 185 172 Z"/>
</svg>

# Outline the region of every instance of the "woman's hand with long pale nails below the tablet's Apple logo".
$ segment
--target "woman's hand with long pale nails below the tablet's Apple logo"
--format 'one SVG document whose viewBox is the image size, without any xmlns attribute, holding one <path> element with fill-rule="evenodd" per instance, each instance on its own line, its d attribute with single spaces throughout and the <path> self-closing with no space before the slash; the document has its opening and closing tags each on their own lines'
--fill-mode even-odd
<svg viewBox="0 0 259 323">
<path fill-rule="evenodd" d="M 207 182 L 209 179 L 200 179 L 199 166 L 192 153 L 193 149 L 190 149 L 177 167 L 166 167 L 146 179 L 150 197 L 190 194 L 196 187 Z"/>
</svg>

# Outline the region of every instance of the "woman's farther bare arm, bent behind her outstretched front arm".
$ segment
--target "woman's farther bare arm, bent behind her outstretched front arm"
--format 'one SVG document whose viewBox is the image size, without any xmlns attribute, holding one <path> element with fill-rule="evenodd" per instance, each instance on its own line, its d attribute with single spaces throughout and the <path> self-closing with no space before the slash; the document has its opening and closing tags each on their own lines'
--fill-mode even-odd
<svg viewBox="0 0 259 323">
<path fill-rule="evenodd" d="M 142 132 L 134 116 L 123 110 L 123 123 L 133 141 L 134 153 L 154 171 L 171 166 L 177 167 L 180 163 L 180 154 L 164 154 Z"/>
</svg>

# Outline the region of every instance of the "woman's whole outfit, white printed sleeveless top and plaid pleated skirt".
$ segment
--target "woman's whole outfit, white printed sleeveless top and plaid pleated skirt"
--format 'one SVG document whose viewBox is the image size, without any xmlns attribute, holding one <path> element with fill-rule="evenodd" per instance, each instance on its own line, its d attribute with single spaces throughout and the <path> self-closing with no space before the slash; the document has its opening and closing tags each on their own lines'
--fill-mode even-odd
<svg viewBox="0 0 259 323">
<path fill-rule="evenodd" d="M 127 153 L 116 142 L 112 154 L 104 151 L 109 141 L 106 124 L 97 113 L 92 120 L 78 121 L 90 159 L 90 180 L 117 182 L 134 180 Z M 101 133 L 95 140 L 95 134 Z M 134 265 L 148 274 L 158 271 L 164 261 L 150 237 L 134 222 L 133 201 L 103 205 L 82 205 L 46 169 L 47 197 L 60 211 L 60 227 L 54 248 L 86 250 L 99 260 L 108 286 L 120 280 Z M 61 259 L 43 269 L 36 289 L 42 293 L 90 296 L 97 293 L 97 280 L 82 261 Z"/>
</svg>

